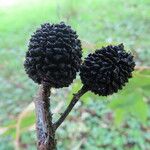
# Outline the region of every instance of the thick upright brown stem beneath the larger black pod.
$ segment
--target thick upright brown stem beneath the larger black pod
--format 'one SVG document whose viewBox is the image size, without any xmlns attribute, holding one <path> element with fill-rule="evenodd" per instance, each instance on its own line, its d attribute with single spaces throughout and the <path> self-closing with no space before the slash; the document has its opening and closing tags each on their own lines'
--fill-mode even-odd
<svg viewBox="0 0 150 150">
<path fill-rule="evenodd" d="M 55 132 L 52 125 L 52 114 L 50 112 L 50 87 L 41 85 L 35 97 L 37 149 L 55 150 Z"/>
</svg>

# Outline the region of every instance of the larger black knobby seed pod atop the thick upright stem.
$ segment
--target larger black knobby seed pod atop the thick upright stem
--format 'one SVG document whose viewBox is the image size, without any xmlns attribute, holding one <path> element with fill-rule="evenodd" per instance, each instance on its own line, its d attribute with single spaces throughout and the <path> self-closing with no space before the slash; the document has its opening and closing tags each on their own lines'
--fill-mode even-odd
<svg viewBox="0 0 150 150">
<path fill-rule="evenodd" d="M 36 83 L 52 87 L 69 86 L 80 68 L 82 49 L 78 35 L 70 26 L 45 23 L 31 36 L 25 71 Z"/>
</svg>

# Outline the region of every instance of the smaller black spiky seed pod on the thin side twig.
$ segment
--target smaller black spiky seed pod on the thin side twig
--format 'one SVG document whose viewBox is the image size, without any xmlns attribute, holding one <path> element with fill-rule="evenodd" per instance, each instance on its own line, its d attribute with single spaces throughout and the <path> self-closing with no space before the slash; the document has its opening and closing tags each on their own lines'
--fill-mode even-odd
<svg viewBox="0 0 150 150">
<path fill-rule="evenodd" d="M 132 77 L 135 63 L 123 44 L 107 46 L 89 54 L 80 69 L 82 83 L 93 93 L 116 93 Z"/>
</svg>

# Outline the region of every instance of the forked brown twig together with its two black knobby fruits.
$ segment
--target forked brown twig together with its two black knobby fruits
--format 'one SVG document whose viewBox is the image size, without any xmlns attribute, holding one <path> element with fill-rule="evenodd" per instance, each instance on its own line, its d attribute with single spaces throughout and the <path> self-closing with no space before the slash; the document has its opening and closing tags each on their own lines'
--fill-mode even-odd
<svg viewBox="0 0 150 150">
<path fill-rule="evenodd" d="M 123 44 L 96 50 L 85 58 L 82 65 L 81 57 L 81 42 L 76 32 L 63 22 L 45 23 L 31 36 L 24 67 L 28 76 L 41 84 L 34 100 L 37 149 L 56 149 L 56 129 L 87 91 L 100 96 L 111 95 L 122 89 L 132 77 L 135 63 Z M 69 86 L 79 69 L 83 86 L 53 123 L 50 89 Z"/>
</svg>

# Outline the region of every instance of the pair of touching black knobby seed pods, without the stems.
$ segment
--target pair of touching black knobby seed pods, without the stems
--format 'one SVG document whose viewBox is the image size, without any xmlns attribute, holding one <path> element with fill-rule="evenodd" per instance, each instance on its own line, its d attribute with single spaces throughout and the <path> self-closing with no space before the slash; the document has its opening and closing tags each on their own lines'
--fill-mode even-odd
<svg viewBox="0 0 150 150">
<path fill-rule="evenodd" d="M 135 63 L 123 44 L 96 50 L 83 62 L 81 57 L 81 42 L 70 26 L 46 23 L 32 35 L 24 67 L 36 83 L 55 88 L 69 86 L 80 70 L 84 86 L 102 96 L 122 89 L 132 77 Z"/>
</svg>

